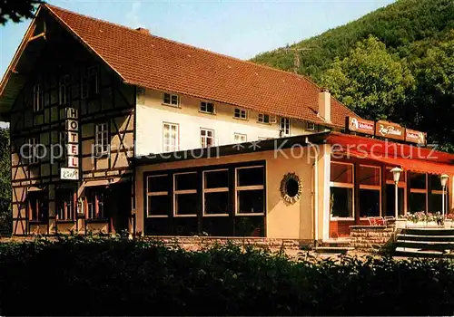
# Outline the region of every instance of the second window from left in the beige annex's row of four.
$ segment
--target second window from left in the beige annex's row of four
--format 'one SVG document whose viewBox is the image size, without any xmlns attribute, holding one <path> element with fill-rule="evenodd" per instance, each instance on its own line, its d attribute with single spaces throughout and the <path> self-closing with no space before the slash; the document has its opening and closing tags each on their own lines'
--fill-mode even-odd
<svg viewBox="0 0 454 317">
<path fill-rule="evenodd" d="M 173 174 L 174 216 L 197 216 L 198 179 L 196 172 Z"/>
</svg>

